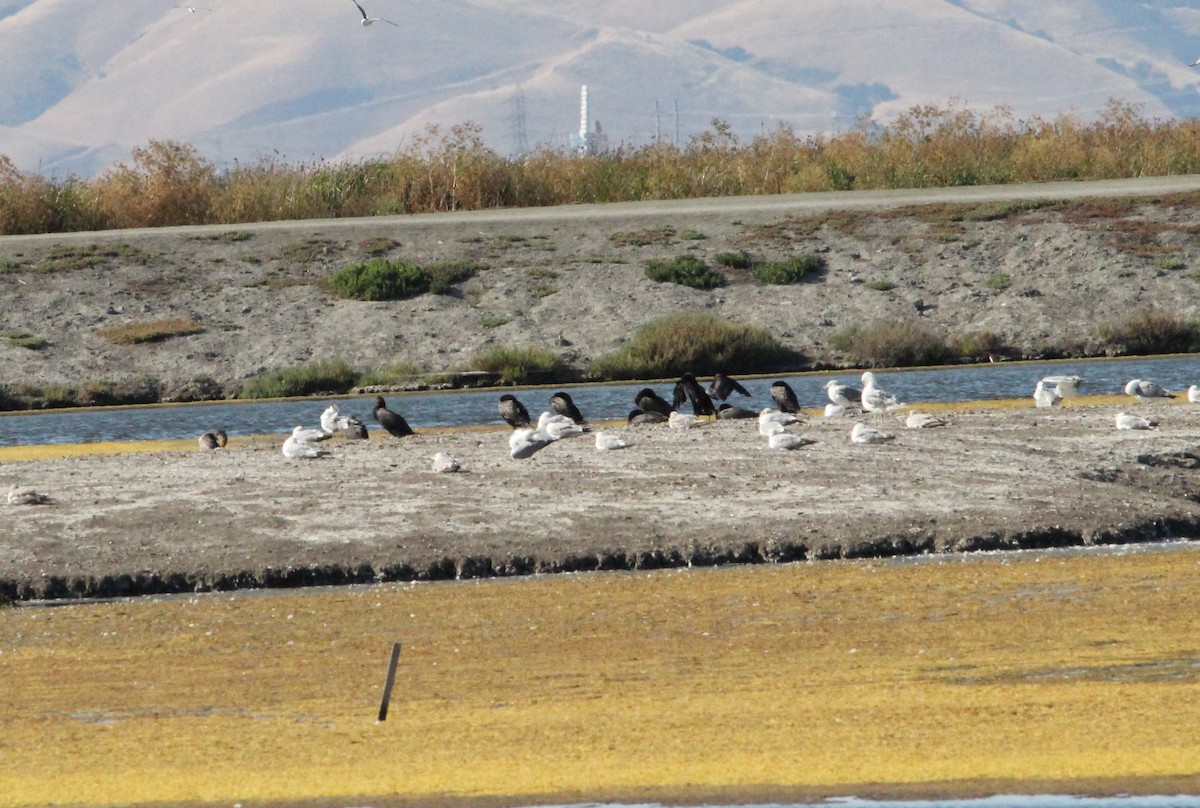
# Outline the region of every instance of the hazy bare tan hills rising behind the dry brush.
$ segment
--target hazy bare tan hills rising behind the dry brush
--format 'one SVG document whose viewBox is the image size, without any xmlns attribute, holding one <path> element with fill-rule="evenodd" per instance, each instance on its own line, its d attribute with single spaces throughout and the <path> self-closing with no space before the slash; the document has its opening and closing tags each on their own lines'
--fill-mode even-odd
<svg viewBox="0 0 1200 808">
<path fill-rule="evenodd" d="M 472 121 L 516 154 L 589 128 L 686 142 L 850 128 L 959 100 L 1018 119 L 1200 113 L 1200 0 L 0 0 L 0 154 L 90 175 L 151 139 L 218 166 L 408 148 Z"/>
</svg>

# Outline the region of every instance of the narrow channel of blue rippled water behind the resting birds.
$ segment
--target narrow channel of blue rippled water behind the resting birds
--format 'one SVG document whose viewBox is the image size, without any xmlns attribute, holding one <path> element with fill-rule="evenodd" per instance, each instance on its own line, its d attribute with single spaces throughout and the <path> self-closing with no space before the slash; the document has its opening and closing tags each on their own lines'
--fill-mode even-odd
<svg viewBox="0 0 1200 808">
<path fill-rule="evenodd" d="M 1148 378 L 1172 391 L 1200 383 L 1200 354 L 1152 359 L 1080 360 L 972 365 L 936 370 L 884 371 L 877 383 L 902 401 L 971 401 L 1030 396 L 1039 378 L 1048 375 L 1079 375 L 1080 393 L 1120 393 L 1130 378 Z M 787 381 L 805 407 L 823 407 L 828 399 L 822 385 L 840 378 L 857 385 L 857 373 L 809 373 L 742 379 L 751 397 L 734 395 L 731 403 L 760 409 L 770 406 L 768 389 L 778 378 Z M 536 417 L 547 407 L 550 395 L 566 390 L 584 417 L 593 420 L 624 418 L 634 406 L 634 394 L 644 383 L 596 384 L 515 391 Z M 670 383 L 650 384 L 671 397 Z M 388 406 L 422 426 L 467 426 L 500 424 L 496 411 L 497 390 L 390 394 Z M 229 435 L 272 435 L 290 432 L 298 424 L 317 426 L 320 412 L 337 402 L 342 412 L 358 415 L 370 429 L 374 396 L 331 396 L 271 402 L 217 402 L 155 407 L 104 407 L 90 411 L 53 411 L 0 417 L 0 445 L 42 443 L 91 443 L 97 441 L 145 441 L 196 437 L 223 429 Z"/>
</svg>

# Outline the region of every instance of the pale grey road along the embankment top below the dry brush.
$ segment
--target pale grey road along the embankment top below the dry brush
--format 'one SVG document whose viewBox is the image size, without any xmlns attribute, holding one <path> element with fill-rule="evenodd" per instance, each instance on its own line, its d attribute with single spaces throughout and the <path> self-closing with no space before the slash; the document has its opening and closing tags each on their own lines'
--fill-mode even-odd
<svg viewBox="0 0 1200 808">
<path fill-rule="evenodd" d="M 341 228 L 386 226 L 396 228 L 427 228 L 448 225 L 484 226 L 505 222 L 547 223 L 554 221 L 656 219 L 664 216 L 697 215 L 704 213 L 730 215 L 748 211 L 798 211 L 845 210 L 852 208 L 899 208 L 905 205 L 940 204 L 954 202 L 1002 202 L 1012 199 L 1078 199 L 1081 197 L 1153 197 L 1170 193 L 1200 191 L 1200 174 L 1178 176 L 1141 176 L 1128 180 L 1100 180 L 1091 182 L 1026 182 L 1019 185 L 978 185 L 952 188 L 913 188 L 895 191 L 829 191 L 822 193 L 785 193 L 752 197 L 714 197 L 704 199 L 667 199 L 662 202 L 626 202 L 589 205 L 558 205 L 552 208 L 510 208 L 503 210 L 474 210 L 446 214 L 418 214 L 409 216 L 374 216 L 370 219 L 330 219 L 306 222 L 282 221 L 253 225 L 210 225 L 203 227 L 163 227 L 151 233 L 167 237 L 223 232 L 236 227 L 239 231 L 269 232 L 305 227 L 323 233 Z M 148 231 L 107 231 L 107 238 L 128 238 L 131 234 L 148 235 Z M 95 239 L 96 234 L 53 233 L 35 237 L 4 237 L 55 241 L 72 238 Z"/>
</svg>

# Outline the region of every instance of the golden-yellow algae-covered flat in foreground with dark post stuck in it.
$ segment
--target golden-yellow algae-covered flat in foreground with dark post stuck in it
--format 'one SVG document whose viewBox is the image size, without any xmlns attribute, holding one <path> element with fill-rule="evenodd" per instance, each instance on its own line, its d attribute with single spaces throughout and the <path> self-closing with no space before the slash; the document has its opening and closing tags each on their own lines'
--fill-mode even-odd
<svg viewBox="0 0 1200 808">
<path fill-rule="evenodd" d="M 19 606 L 0 804 L 1195 794 L 1198 614 L 1190 546 Z"/>
</svg>

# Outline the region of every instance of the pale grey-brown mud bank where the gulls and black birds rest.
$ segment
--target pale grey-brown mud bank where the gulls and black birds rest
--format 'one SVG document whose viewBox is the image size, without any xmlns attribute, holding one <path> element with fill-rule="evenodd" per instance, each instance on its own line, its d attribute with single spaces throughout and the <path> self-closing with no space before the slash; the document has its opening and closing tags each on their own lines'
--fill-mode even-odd
<svg viewBox="0 0 1200 808">
<path fill-rule="evenodd" d="M 1117 431 L 1118 409 L 1160 426 Z M 598 451 L 586 435 L 524 461 L 506 430 L 458 430 L 337 438 L 310 461 L 263 437 L 5 462 L 0 485 L 53 502 L 0 505 L 0 581 L 70 597 L 1200 535 L 1200 407 L 942 414 L 932 430 L 889 418 L 881 445 L 811 418 L 792 429 L 815 443 L 796 451 L 768 449 L 757 421 L 716 421 L 605 426 L 632 445 Z M 438 451 L 463 471 L 433 473 Z"/>
</svg>

